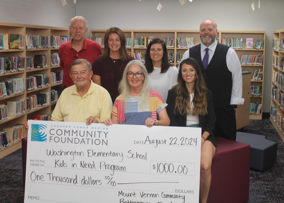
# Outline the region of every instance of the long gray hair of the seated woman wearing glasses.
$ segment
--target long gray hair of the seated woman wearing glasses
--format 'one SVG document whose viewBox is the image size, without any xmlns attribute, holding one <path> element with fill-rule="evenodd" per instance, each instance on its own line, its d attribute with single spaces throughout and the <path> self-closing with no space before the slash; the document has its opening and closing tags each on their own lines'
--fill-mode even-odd
<svg viewBox="0 0 284 203">
<path fill-rule="evenodd" d="M 147 69 L 141 61 L 132 60 L 126 65 L 124 72 L 123 72 L 123 75 L 122 75 L 122 79 L 121 79 L 119 86 L 118 86 L 118 91 L 121 94 L 122 99 L 125 100 L 126 98 L 129 97 L 131 86 L 128 83 L 127 73 L 129 71 L 129 68 L 131 67 L 131 65 L 138 65 L 141 68 L 141 72 L 144 75 L 143 86 L 142 86 L 142 90 L 141 90 L 140 97 L 139 97 L 139 100 L 138 100 L 138 108 L 139 109 L 141 109 L 141 108 L 147 109 L 148 108 L 148 110 L 149 110 L 149 87 L 148 87 L 149 77 L 148 77 Z"/>
</svg>

